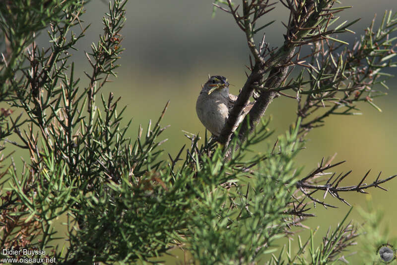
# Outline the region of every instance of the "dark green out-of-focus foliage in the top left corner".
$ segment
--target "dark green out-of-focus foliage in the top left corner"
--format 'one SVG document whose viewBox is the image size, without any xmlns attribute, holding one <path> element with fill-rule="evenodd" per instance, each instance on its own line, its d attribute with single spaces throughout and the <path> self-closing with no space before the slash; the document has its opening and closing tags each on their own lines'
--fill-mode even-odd
<svg viewBox="0 0 397 265">
<path fill-rule="evenodd" d="M 7 46 L 5 60 L 1 63 L 1 100 L 7 99 L 18 88 L 21 80 L 14 80 L 13 70 L 23 67 L 26 59 L 23 51 L 32 43 L 35 33 L 47 27 L 50 22 L 70 24 L 70 20 L 75 19 L 70 17 L 71 10 L 81 7 L 82 1 L 79 0 L 66 0 L 62 3 L 59 0 L 15 0 L 1 4 L 1 44 Z"/>
</svg>

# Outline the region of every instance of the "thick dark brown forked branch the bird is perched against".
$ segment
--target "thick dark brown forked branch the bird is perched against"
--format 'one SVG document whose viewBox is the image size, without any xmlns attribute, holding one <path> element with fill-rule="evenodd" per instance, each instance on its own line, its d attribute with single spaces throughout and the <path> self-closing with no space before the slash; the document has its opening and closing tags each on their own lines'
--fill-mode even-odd
<svg viewBox="0 0 397 265">
<path fill-rule="evenodd" d="M 253 22 L 250 20 L 250 5 L 247 1 L 243 1 L 243 16 L 237 13 L 237 9 L 232 8 L 231 2 L 228 1 L 230 13 L 232 13 L 237 24 L 246 33 L 247 43 L 251 50 L 252 55 L 255 58 L 255 66 L 252 69 L 251 75 L 248 77 L 247 82 L 239 94 L 233 109 L 229 113 L 229 118 L 222 129 L 218 141 L 227 148 L 230 140 L 233 137 L 232 128 L 237 125 L 238 119 L 246 106 L 249 98 L 252 96 L 254 89 L 253 85 L 256 85 L 262 81 L 265 74 L 268 73 L 267 80 L 265 81 L 265 88 L 278 88 L 284 82 L 288 68 L 291 65 L 291 60 L 294 57 L 294 51 L 299 46 L 297 41 L 302 40 L 304 37 L 310 34 L 313 30 L 317 29 L 319 25 L 319 15 L 324 9 L 329 8 L 332 3 L 324 2 L 317 8 L 314 8 L 313 2 L 308 2 L 305 6 L 293 6 L 289 3 L 290 19 L 287 26 L 287 35 L 285 35 L 285 43 L 276 52 L 271 53 L 268 60 L 265 61 L 265 54 L 262 54 L 263 43 L 260 45 L 260 50 L 256 47 L 253 39 Z M 265 10 L 267 1 L 263 6 L 262 10 Z M 301 10 L 301 8 L 303 8 Z M 265 70 L 266 68 L 266 70 Z M 260 84 L 261 85 L 261 84 Z M 272 102 L 273 98 L 278 95 L 275 91 L 264 91 L 261 93 L 253 108 L 244 118 L 242 122 L 239 140 L 240 143 L 244 142 L 248 135 L 255 129 L 257 123 L 261 117 L 265 114 L 267 106 Z M 237 145 L 237 148 L 239 146 Z M 231 157 L 232 149 L 229 147 L 225 153 L 225 159 L 229 160 Z"/>
</svg>

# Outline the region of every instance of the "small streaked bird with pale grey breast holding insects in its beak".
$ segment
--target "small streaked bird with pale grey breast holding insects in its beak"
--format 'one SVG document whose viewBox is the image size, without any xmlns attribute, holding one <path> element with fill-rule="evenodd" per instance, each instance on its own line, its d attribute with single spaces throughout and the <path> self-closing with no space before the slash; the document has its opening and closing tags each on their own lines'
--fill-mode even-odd
<svg viewBox="0 0 397 265">
<path fill-rule="evenodd" d="M 219 136 L 236 100 L 237 96 L 229 93 L 229 82 L 223 76 L 210 77 L 202 87 L 196 102 L 196 112 L 201 123 L 214 136 Z M 253 105 L 254 102 L 249 102 L 244 107 L 233 131 L 243 121 Z"/>
</svg>

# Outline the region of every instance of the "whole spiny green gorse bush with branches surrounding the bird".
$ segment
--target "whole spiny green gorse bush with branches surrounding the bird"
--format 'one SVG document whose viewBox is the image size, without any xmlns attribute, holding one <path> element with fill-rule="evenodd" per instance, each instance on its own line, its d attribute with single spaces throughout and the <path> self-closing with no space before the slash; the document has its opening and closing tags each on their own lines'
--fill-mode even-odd
<svg viewBox="0 0 397 265">
<path fill-rule="evenodd" d="M 139 126 L 138 137 L 130 139 L 131 121 L 122 122 L 126 108 L 118 106 L 120 98 L 101 93 L 116 78 L 126 2 L 109 1 L 103 33 L 86 53 L 87 86 L 70 62 L 88 28 L 82 21 L 84 1 L 0 5 L 0 100 L 6 106 L 0 113 L 0 243 L 2 249 L 46 251 L 0 257 L 47 256 L 57 264 L 157 263 L 153 258 L 180 248 L 191 253 L 186 262 L 192 264 L 346 261 L 342 251 L 359 235 L 353 223 L 346 223 L 347 215 L 318 246 L 315 231 L 302 241 L 292 228 L 314 216 L 312 204 L 334 207 L 317 196 L 319 191 L 348 204 L 343 192 L 383 188 L 380 184 L 396 176 L 382 179 L 379 174 L 367 184 L 368 172 L 357 185 L 342 186 L 350 172 L 326 173 L 343 162 L 323 158 L 305 176 L 294 158 L 308 133 L 327 117 L 356 114 L 360 101 L 379 109 L 374 98 L 385 92 L 376 89 L 388 89 L 385 70 L 396 66 L 396 37 L 391 34 L 397 30 L 397 14 L 386 12 L 379 29 L 372 23 L 348 45 L 340 36 L 351 32 L 348 28 L 357 20 L 338 24 L 336 17 L 347 7 L 334 0 L 280 0 L 290 15 L 283 45 L 271 48 L 265 35 L 260 43 L 254 37 L 272 23 L 258 21 L 275 3 L 216 0 L 214 12 L 228 12 L 246 36 L 251 52 L 247 81 L 217 139 L 187 134 L 191 144 L 161 160 L 166 153 L 161 121 L 168 103 L 155 124 Z M 49 47 L 39 47 L 36 36 L 45 29 Z M 301 47 L 307 45 L 312 51 L 301 58 Z M 289 78 L 293 69 L 300 72 Z M 278 96 L 297 100 L 297 116 L 270 143 L 271 123 L 263 116 Z M 232 132 L 251 97 L 254 107 Z M 267 150 L 251 151 L 264 141 Z M 10 164 L 12 148 L 29 156 L 22 168 Z M 65 220 L 64 234 L 57 233 L 60 219 Z M 290 241 L 287 247 L 275 245 L 284 237 L 295 238 L 298 249 Z"/>
</svg>

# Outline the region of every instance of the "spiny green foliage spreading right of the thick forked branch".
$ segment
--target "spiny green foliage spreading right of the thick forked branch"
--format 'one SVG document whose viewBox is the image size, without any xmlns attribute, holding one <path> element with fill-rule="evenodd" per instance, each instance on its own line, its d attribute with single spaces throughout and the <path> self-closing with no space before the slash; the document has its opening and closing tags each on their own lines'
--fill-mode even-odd
<svg viewBox="0 0 397 265">
<path fill-rule="evenodd" d="M 308 120 L 302 124 L 302 129 L 309 131 L 321 126 L 329 115 L 361 114 L 357 112 L 359 109 L 356 105 L 360 101 L 367 102 L 382 111 L 373 99 L 387 93 L 374 89 L 374 86 L 379 84 L 389 89 L 385 86 L 385 82 L 392 76 L 384 70 L 397 66 L 391 60 L 395 53 L 390 49 L 395 45 L 393 42 L 397 37 L 389 37 L 397 30 L 396 23 L 397 13 L 386 11 L 376 33 L 373 20 L 365 35 L 361 36 L 352 48 L 337 42 L 331 45 L 319 43 L 314 46 L 310 67 L 302 70 L 296 79 L 291 79 L 289 85 L 298 88 L 292 88 L 298 95 L 307 95 L 300 97 L 298 103 L 299 116 Z M 329 50 L 327 55 L 321 53 L 325 48 Z M 305 72 L 311 77 L 308 81 L 305 81 Z M 313 110 L 326 104 L 327 111 L 311 118 Z"/>
</svg>

